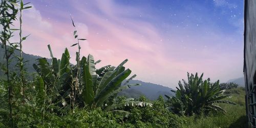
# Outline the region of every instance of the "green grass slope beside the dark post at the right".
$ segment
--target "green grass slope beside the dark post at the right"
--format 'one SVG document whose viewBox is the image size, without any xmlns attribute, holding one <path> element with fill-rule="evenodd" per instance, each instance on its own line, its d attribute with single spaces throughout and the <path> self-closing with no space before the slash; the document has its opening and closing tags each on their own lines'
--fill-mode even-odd
<svg viewBox="0 0 256 128">
<path fill-rule="evenodd" d="M 182 127 L 247 127 L 244 89 L 231 89 L 227 90 L 226 93 L 231 95 L 227 98 L 228 100 L 237 103 L 236 105 L 220 104 L 227 113 L 185 117 L 185 123 Z"/>
</svg>

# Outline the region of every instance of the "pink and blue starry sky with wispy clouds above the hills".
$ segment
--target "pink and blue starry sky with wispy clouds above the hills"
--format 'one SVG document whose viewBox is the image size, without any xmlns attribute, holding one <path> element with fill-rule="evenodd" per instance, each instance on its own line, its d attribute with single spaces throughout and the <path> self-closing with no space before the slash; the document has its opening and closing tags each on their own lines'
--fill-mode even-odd
<svg viewBox="0 0 256 128">
<path fill-rule="evenodd" d="M 24 52 L 57 58 L 69 49 L 75 63 L 76 25 L 81 55 L 102 60 L 97 68 L 126 68 L 135 79 L 175 88 L 187 72 L 212 82 L 243 76 L 241 0 L 45 0 L 27 1 L 23 12 Z"/>
</svg>

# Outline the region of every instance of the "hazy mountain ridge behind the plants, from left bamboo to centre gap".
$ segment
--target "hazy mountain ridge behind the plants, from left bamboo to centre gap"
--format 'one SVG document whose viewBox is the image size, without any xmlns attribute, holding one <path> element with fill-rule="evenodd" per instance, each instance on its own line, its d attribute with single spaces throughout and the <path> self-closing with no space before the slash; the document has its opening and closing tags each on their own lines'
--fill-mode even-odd
<svg viewBox="0 0 256 128">
<path fill-rule="evenodd" d="M 15 51 L 15 54 L 18 55 L 18 51 Z M 5 59 L 4 59 L 4 49 L 0 47 L 0 63 L 5 65 Z M 35 73 L 35 70 L 33 68 L 33 63 L 36 62 L 36 59 L 42 58 L 41 56 L 35 56 L 31 54 L 23 53 L 24 61 L 27 61 L 25 64 L 25 68 L 27 69 L 28 75 L 27 78 L 32 80 L 33 79 L 33 73 Z M 50 59 L 48 59 L 50 62 Z M 17 59 L 13 58 L 10 69 L 11 71 L 18 71 L 17 67 L 15 67 L 17 63 Z M 4 72 L 0 70 L 0 77 L 4 76 Z M 149 82 L 143 82 L 140 80 L 131 80 L 130 83 L 141 83 L 141 86 L 134 86 L 131 87 L 131 89 L 123 90 L 119 95 L 124 95 L 126 97 L 133 97 L 133 98 L 139 98 L 141 95 L 144 95 L 150 100 L 155 100 L 158 98 L 159 95 L 162 95 L 164 98 L 164 95 L 173 96 L 174 93 L 170 92 L 170 90 L 173 90 L 168 87 L 161 86 L 159 84 L 149 83 Z"/>
</svg>

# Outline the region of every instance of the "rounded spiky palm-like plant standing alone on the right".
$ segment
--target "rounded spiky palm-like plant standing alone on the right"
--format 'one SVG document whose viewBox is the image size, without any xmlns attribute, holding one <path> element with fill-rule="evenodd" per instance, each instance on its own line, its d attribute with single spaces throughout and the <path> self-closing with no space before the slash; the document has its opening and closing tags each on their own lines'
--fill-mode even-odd
<svg viewBox="0 0 256 128">
<path fill-rule="evenodd" d="M 209 111 L 226 112 L 216 103 L 236 104 L 231 101 L 222 100 L 229 95 L 224 95 L 225 90 L 221 90 L 219 80 L 215 83 L 210 83 L 210 79 L 202 80 L 203 74 L 198 77 L 187 73 L 188 82 L 182 79 L 183 84 L 179 81 L 176 96 L 169 97 L 167 102 L 169 110 L 177 114 L 193 115 L 208 113 Z"/>
</svg>

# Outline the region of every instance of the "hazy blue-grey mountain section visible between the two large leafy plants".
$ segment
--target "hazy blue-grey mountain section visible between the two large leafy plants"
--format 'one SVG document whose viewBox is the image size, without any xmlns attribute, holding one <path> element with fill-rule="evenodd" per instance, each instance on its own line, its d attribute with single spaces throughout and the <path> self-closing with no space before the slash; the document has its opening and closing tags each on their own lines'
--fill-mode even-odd
<svg viewBox="0 0 256 128">
<path fill-rule="evenodd" d="M 174 96 L 175 95 L 175 93 L 170 91 L 170 90 L 173 90 L 172 88 L 164 87 L 164 86 L 161 86 L 159 84 L 154 84 L 154 83 L 150 83 L 150 82 L 143 82 L 143 81 L 140 81 L 140 80 L 131 80 L 129 83 L 140 83 L 141 86 L 132 86 L 131 89 L 123 90 L 121 92 L 121 94 L 126 94 L 127 95 L 127 93 L 129 94 L 129 92 L 131 90 L 136 90 L 137 94 L 141 93 L 142 95 L 144 95 L 146 98 L 148 98 L 150 100 L 156 100 L 159 97 L 159 95 L 163 96 L 164 98 L 165 98 L 164 95 L 168 95 L 168 96 Z M 130 95 L 134 95 L 134 94 L 130 93 Z M 131 96 L 129 96 L 129 97 L 131 97 Z M 133 98 L 137 98 L 137 97 L 133 97 Z"/>
</svg>

